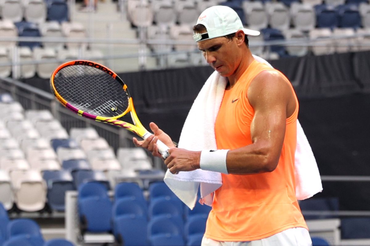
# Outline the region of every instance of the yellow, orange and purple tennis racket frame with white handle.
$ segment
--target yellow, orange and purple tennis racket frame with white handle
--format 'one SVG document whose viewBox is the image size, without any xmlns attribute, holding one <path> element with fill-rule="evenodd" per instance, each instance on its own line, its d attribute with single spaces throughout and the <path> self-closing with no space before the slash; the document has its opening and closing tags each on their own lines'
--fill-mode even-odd
<svg viewBox="0 0 370 246">
<path fill-rule="evenodd" d="M 51 75 L 50 87 L 61 104 L 80 116 L 123 127 L 143 139 L 152 135 L 139 121 L 127 85 L 104 65 L 86 60 L 61 64 Z M 128 113 L 133 124 L 120 120 Z M 167 158 L 169 148 L 159 140 L 157 146 Z"/>
</svg>

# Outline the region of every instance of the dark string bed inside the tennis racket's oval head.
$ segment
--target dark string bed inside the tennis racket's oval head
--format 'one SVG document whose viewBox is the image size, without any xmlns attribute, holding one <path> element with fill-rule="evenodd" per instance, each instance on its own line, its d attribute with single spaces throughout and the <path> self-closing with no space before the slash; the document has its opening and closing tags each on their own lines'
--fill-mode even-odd
<svg viewBox="0 0 370 246">
<path fill-rule="evenodd" d="M 98 68 L 64 67 L 55 75 L 54 86 L 65 101 L 92 115 L 116 117 L 128 107 L 122 84 Z"/>
</svg>

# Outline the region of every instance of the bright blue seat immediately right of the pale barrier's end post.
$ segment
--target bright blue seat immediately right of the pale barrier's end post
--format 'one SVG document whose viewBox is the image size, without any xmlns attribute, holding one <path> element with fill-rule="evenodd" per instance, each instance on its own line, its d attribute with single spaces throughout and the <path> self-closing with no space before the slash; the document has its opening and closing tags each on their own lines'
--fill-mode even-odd
<svg viewBox="0 0 370 246">
<path fill-rule="evenodd" d="M 83 232 L 112 230 L 112 202 L 107 188 L 101 183 L 84 183 L 78 188 L 78 215 Z"/>
</svg>

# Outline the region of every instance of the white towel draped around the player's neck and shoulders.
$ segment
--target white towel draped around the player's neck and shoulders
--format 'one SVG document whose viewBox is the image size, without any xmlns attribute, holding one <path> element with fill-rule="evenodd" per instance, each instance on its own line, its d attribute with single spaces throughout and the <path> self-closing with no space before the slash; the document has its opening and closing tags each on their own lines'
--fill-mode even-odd
<svg viewBox="0 0 370 246">
<path fill-rule="evenodd" d="M 253 55 L 262 63 L 264 59 Z M 182 128 L 179 148 L 191 151 L 217 149 L 215 121 L 222 102 L 227 79 L 214 71 L 196 97 Z M 297 148 L 295 153 L 296 197 L 299 200 L 310 198 L 322 191 L 319 169 L 312 149 L 302 127 L 297 121 Z M 201 203 L 212 206 L 213 192 L 222 185 L 221 173 L 197 169 L 191 172 L 172 174 L 166 171 L 164 182 L 190 209 L 197 200 L 200 186 Z"/>
</svg>

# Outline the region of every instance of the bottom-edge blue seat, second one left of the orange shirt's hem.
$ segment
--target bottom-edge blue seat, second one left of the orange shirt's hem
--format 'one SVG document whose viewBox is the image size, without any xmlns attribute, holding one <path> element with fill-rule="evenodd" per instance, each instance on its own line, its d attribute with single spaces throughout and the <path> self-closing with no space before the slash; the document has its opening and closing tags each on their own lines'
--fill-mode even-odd
<svg viewBox="0 0 370 246">
<path fill-rule="evenodd" d="M 148 223 L 148 239 L 152 246 L 182 246 L 185 241 L 182 228 L 165 217 L 152 218 Z"/>
</svg>

